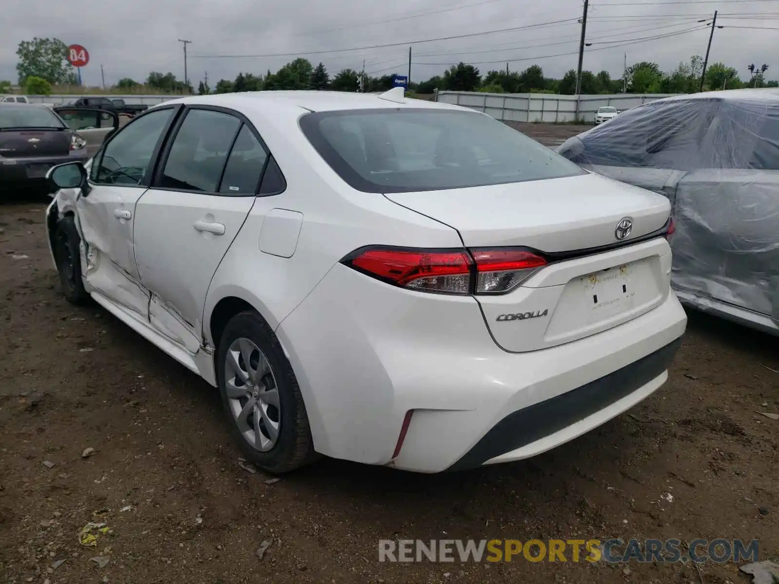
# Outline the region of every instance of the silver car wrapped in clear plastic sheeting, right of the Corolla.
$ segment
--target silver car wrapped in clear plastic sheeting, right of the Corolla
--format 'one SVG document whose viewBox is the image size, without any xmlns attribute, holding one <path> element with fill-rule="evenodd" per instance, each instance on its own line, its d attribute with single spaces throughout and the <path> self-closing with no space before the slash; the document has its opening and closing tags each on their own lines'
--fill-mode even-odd
<svg viewBox="0 0 779 584">
<path fill-rule="evenodd" d="M 779 90 L 653 101 L 557 152 L 670 199 L 682 303 L 779 336 Z"/>
</svg>

